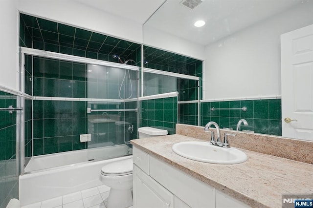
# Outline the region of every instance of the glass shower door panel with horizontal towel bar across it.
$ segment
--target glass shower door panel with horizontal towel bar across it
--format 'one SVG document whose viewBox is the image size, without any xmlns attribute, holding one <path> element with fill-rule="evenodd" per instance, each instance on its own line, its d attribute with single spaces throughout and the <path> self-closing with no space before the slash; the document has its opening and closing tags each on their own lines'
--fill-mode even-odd
<svg viewBox="0 0 313 208">
<path fill-rule="evenodd" d="M 88 159 L 132 154 L 130 140 L 137 138 L 138 71 L 95 64 L 87 67 Z"/>
</svg>

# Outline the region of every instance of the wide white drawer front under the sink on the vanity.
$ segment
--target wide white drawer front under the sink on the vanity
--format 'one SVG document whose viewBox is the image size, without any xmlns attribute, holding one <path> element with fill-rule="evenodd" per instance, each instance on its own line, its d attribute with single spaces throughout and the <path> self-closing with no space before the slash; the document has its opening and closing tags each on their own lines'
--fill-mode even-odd
<svg viewBox="0 0 313 208">
<path fill-rule="evenodd" d="M 150 176 L 192 208 L 215 207 L 215 188 L 154 157 Z"/>
</svg>

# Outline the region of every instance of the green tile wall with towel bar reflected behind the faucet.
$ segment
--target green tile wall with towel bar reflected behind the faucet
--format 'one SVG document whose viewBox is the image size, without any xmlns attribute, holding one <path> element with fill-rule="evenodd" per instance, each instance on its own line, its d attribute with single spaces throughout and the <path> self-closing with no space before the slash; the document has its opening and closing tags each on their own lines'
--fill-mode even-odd
<svg viewBox="0 0 313 208">
<path fill-rule="evenodd" d="M 246 112 L 242 110 L 210 110 L 211 107 L 241 108 L 243 106 L 247 107 Z M 246 119 L 248 122 L 248 125 L 242 125 L 241 129 L 281 136 L 281 99 L 201 103 L 201 126 L 215 121 L 221 128 L 236 129 L 240 119 Z"/>
</svg>

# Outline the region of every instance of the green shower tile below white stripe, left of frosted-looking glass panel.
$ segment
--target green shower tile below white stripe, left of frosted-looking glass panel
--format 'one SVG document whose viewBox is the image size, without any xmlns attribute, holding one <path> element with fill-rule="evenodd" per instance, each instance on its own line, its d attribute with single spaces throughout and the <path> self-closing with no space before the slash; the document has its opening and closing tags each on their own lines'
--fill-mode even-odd
<svg viewBox="0 0 313 208">
<path fill-rule="evenodd" d="M 33 156 L 87 148 L 87 102 L 33 101 Z"/>
</svg>

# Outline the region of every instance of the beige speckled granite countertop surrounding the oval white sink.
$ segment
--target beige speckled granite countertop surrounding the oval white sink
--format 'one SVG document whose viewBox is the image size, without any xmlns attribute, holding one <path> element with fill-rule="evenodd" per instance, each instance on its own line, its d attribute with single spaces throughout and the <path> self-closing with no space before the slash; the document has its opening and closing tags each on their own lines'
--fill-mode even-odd
<svg viewBox="0 0 313 208">
<path fill-rule="evenodd" d="M 131 143 L 253 208 L 281 208 L 282 194 L 313 193 L 313 165 L 245 149 L 248 160 L 242 164 L 202 163 L 173 152 L 172 146 L 184 141 L 203 140 L 174 134 Z"/>
</svg>

